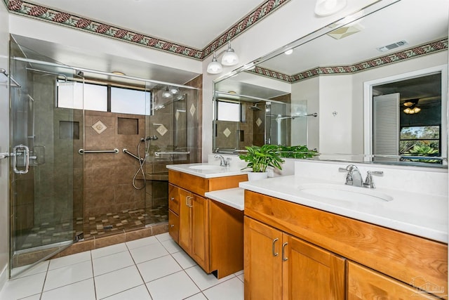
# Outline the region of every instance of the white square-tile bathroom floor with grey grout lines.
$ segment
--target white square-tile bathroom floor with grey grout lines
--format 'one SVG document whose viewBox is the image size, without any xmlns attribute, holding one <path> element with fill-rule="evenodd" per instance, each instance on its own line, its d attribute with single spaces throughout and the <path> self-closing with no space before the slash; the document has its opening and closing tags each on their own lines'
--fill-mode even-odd
<svg viewBox="0 0 449 300">
<path fill-rule="evenodd" d="M 243 271 L 217 280 L 168 233 L 44 261 L 1 300 L 243 300 Z"/>
</svg>

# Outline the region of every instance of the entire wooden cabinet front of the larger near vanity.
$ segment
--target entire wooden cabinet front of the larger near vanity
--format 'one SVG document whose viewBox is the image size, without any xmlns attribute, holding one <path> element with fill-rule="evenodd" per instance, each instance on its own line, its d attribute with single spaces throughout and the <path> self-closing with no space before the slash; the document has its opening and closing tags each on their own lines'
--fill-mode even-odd
<svg viewBox="0 0 449 300">
<path fill-rule="evenodd" d="M 448 299 L 447 244 L 248 190 L 244 247 L 246 300 Z"/>
</svg>

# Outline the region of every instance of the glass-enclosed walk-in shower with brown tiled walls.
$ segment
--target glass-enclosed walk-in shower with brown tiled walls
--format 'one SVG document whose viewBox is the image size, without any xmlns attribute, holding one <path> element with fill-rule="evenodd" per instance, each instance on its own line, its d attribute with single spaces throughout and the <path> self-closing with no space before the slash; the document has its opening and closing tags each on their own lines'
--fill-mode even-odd
<svg viewBox="0 0 449 300">
<path fill-rule="evenodd" d="M 11 276 L 73 243 L 166 223 L 166 165 L 201 157 L 198 89 L 69 67 L 13 41 L 10 53 Z M 162 97 L 166 86 L 176 94 Z"/>
</svg>

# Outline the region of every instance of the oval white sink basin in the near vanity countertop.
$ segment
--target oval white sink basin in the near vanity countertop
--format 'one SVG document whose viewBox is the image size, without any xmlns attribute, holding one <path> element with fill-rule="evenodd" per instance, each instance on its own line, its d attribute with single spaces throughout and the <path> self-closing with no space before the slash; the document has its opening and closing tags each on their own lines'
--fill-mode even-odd
<svg viewBox="0 0 449 300">
<path fill-rule="evenodd" d="M 326 197 L 337 200 L 363 201 L 363 200 L 383 200 L 391 201 L 393 197 L 380 193 L 370 188 L 362 188 L 351 185 L 337 185 L 328 183 L 306 183 L 298 186 L 303 193 Z"/>
</svg>

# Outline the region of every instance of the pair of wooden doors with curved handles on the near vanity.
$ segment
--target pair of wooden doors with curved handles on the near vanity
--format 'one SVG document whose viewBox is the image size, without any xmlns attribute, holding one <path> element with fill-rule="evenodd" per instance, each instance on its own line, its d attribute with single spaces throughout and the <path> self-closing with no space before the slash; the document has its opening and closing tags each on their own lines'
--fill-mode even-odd
<svg viewBox="0 0 449 300">
<path fill-rule="evenodd" d="M 344 299 L 345 260 L 245 217 L 245 299 Z"/>
</svg>

